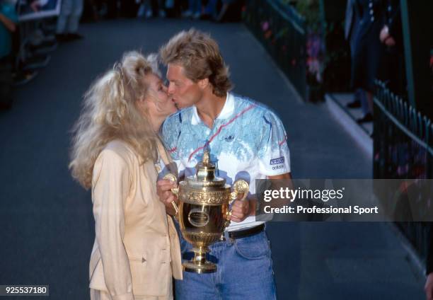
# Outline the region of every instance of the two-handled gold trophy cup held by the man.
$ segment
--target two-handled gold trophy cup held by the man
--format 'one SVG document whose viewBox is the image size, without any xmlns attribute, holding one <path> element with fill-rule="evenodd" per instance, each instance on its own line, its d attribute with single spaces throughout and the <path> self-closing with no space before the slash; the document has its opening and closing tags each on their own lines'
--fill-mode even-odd
<svg viewBox="0 0 433 300">
<path fill-rule="evenodd" d="M 230 224 L 229 205 L 243 195 L 248 195 L 248 183 L 236 180 L 231 186 L 224 178 L 215 176 L 215 165 L 209 161 L 209 151 L 204 151 L 203 160 L 195 166 L 194 176 L 180 181 L 178 188 L 171 191 L 178 196 L 179 206 L 172 202 L 177 212 L 180 231 L 192 244 L 194 258 L 183 263 L 183 270 L 195 273 L 212 273 L 217 265 L 206 260 L 209 245 L 223 238 L 224 229 Z M 175 175 L 167 174 L 164 179 L 176 182 Z"/>
</svg>

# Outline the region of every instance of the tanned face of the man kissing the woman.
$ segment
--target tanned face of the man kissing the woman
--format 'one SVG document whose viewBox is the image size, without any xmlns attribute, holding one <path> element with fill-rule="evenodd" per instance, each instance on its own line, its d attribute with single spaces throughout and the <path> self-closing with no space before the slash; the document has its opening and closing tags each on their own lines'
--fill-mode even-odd
<svg viewBox="0 0 433 300">
<path fill-rule="evenodd" d="M 179 64 L 168 64 L 168 94 L 179 109 L 187 108 L 202 99 L 203 91 L 198 83 L 188 79 Z"/>
</svg>

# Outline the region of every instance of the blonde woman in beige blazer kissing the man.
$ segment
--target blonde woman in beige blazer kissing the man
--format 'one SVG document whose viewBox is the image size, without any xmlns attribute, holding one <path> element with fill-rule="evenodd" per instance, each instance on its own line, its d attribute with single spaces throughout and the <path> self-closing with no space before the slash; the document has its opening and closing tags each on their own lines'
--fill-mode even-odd
<svg viewBox="0 0 433 300">
<path fill-rule="evenodd" d="M 74 129 L 70 168 L 92 188 L 96 240 L 91 299 L 172 299 L 182 277 L 178 236 L 156 195 L 158 140 L 176 108 L 156 69 L 138 52 L 93 84 Z"/>
</svg>

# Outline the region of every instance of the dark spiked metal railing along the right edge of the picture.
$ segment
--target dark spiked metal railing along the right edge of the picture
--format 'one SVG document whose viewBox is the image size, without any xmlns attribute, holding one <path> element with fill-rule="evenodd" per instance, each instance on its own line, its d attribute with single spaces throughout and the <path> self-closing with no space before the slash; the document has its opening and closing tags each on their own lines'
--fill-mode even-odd
<svg viewBox="0 0 433 300">
<path fill-rule="evenodd" d="M 381 81 L 376 81 L 374 97 L 374 178 L 433 178 L 432 121 Z M 391 192 L 395 190 L 388 194 Z M 425 260 L 431 223 L 397 222 L 396 225 Z"/>
</svg>

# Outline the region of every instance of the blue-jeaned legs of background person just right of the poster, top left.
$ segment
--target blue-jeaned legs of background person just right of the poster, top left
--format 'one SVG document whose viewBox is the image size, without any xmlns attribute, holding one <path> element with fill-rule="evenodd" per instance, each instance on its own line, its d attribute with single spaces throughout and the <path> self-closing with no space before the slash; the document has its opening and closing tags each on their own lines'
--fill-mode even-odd
<svg viewBox="0 0 433 300">
<path fill-rule="evenodd" d="M 62 0 L 56 29 L 56 37 L 59 42 L 83 38 L 78 34 L 81 13 L 83 13 L 83 0 Z"/>
</svg>

